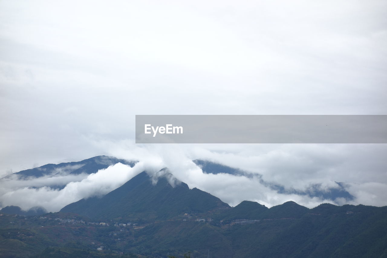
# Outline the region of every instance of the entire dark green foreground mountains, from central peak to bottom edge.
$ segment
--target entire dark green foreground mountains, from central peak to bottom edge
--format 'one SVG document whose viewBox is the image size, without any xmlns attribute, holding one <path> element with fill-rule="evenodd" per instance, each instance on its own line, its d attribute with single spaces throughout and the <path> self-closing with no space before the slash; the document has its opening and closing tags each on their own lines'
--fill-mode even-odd
<svg viewBox="0 0 387 258">
<path fill-rule="evenodd" d="M 387 206 L 230 208 L 160 174 L 152 184 L 143 172 L 59 213 L 3 214 L 0 257 L 387 257 Z"/>
</svg>

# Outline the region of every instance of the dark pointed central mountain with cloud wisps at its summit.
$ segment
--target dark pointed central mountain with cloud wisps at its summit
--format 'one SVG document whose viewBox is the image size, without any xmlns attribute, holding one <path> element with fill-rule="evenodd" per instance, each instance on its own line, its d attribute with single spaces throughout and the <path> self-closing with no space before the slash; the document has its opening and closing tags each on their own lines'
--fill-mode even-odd
<svg viewBox="0 0 387 258">
<path fill-rule="evenodd" d="M 82 199 L 65 206 L 60 212 L 93 219 L 154 221 L 227 207 L 229 205 L 219 198 L 197 188 L 190 189 L 163 169 L 152 177 L 142 172 L 102 198 Z"/>
</svg>

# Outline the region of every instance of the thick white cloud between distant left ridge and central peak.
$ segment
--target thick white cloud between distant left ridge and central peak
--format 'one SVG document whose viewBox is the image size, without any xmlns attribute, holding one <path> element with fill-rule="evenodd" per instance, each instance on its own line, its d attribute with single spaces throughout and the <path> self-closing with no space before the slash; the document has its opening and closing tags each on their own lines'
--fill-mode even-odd
<svg viewBox="0 0 387 258">
<path fill-rule="evenodd" d="M 7 179 L 0 182 L 0 202 L 3 207 L 15 205 L 28 210 L 34 206 L 43 206 L 49 212 L 58 212 L 65 205 L 82 198 L 102 196 L 116 189 L 142 172 L 142 167 L 136 166 L 130 168 L 128 165 L 117 163 L 90 175 L 45 176 L 32 181 Z M 63 189 L 47 186 L 62 183 L 66 183 Z"/>
</svg>

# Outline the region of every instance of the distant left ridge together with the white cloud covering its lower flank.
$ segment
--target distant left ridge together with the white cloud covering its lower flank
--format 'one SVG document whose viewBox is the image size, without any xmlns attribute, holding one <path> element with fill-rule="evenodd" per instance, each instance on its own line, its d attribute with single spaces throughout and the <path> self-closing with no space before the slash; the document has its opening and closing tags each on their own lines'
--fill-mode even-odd
<svg viewBox="0 0 387 258">
<path fill-rule="evenodd" d="M 0 179 L 0 207 L 29 210 L 41 206 L 57 212 L 90 196 L 102 196 L 138 174 L 137 161 L 97 156 L 79 162 L 47 164 Z"/>
</svg>

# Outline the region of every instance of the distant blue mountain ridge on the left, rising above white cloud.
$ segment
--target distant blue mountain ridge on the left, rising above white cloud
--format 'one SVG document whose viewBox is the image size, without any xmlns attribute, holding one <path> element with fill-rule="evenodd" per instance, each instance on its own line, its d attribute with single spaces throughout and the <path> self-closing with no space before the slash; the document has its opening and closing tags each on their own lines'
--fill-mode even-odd
<svg viewBox="0 0 387 258">
<path fill-rule="evenodd" d="M 55 176 L 61 174 L 91 174 L 96 173 L 99 169 L 106 169 L 107 167 L 115 165 L 118 162 L 129 165 L 130 167 L 133 167 L 136 163 L 136 161 L 123 160 L 115 157 L 96 156 L 78 162 L 46 164 L 41 167 L 22 170 L 8 175 L 7 177 L 17 175 L 19 179 L 26 179 L 27 177 L 41 177 L 45 175 Z"/>
</svg>

